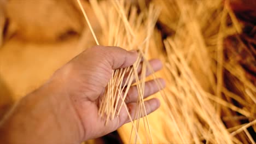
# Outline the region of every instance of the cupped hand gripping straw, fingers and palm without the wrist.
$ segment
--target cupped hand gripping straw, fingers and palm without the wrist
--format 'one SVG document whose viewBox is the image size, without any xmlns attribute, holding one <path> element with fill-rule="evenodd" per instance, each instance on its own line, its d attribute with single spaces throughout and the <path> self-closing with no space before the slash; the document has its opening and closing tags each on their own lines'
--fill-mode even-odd
<svg viewBox="0 0 256 144">
<path fill-rule="evenodd" d="M 66 75 L 64 79 L 67 80 L 65 82 L 67 83 L 67 93 L 71 97 L 73 106 L 77 110 L 84 127 L 83 140 L 108 134 L 121 127 L 121 125 L 130 122 L 125 108 L 122 107 L 120 115 L 105 125 L 106 119 L 98 115 L 98 99 L 104 93 L 105 87 L 112 77 L 112 70 L 129 67 L 136 59 L 136 52 L 129 52 L 119 47 L 95 46 L 75 57 L 65 65 L 63 71 L 61 69 L 61 73 Z M 149 63 L 155 71 L 162 67 L 161 62 L 156 59 Z M 147 71 L 147 75 L 149 74 L 149 71 Z M 159 80 L 162 85 L 165 85 L 164 80 Z M 144 96 L 148 97 L 158 91 L 156 83 L 149 81 L 146 83 Z M 132 86 L 125 99 L 132 117 L 135 115 L 137 97 L 137 87 Z M 158 109 L 160 102 L 153 98 L 145 101 L 145 106 L 149 114 Z"/>
</svg>

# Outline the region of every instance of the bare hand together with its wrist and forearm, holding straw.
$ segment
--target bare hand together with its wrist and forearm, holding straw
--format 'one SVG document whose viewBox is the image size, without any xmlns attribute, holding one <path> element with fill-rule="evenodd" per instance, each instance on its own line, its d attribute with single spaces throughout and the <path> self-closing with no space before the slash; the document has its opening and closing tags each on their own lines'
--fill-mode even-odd
<svg viewBox="0 0 256 144">
<path fill-rule="evenodd" d="M 129 67 L 137 55 L 120 47 L 95 46 L 84 51 L 57 70 L 42 87 L 15 104 L 0 123 L 0 142 L 80 143 L 130 122 L 123 106 L 120 115 L 105 125 L 105 119 L 98 115 L 98 99 L 112 77 L 112 70 Z M 162 68 L 157 59 L 149 63 L 155 71 Z M 165 86 L 164 80 L 159 80 Z M 156 83 L 148 81 L 144 97 L 158 91 Z M 137 95 L 133 86 L 125 99 L 132 117 Z M 153 98 L 145 101 L 145 106 L 149 114 L 158 109 L 160 101 Z"/>
</svg>

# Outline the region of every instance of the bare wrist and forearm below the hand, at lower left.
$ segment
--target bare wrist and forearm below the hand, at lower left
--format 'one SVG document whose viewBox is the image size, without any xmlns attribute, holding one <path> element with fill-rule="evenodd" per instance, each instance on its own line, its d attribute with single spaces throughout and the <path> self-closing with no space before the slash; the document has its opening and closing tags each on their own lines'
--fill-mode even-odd
<svg viewBox="0 0 256 144">
<path fill-rule="evenodd" d="M 53 76 L 16 104 L 0 125 L 1 140 L 7 143 L 79 143 L 82 140 L 83 127 L 61 78 Z"/>
</svg>

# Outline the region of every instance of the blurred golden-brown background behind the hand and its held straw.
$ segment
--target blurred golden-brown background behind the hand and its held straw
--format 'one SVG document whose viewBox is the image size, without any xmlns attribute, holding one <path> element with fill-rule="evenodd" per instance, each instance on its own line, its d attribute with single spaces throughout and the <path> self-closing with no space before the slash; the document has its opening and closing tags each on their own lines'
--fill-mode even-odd
<svg viewBox="0 0 256 144">
<path fill-rule="evenodd" d="M 112 3 L 83 0 L 82 4 L 96 36 L 107 39 L 96 8 L 108 21 L 117 13 L 109 12 Z M 129 20 L 140 19 L 141 13 L 143 20 L 150 19 L 150 5 L 160 10 L 148 58 L 165 63 L 157 75 L 167 80 L 165 93 L 172 98 L 162 99 L 167 106 L 149 117 L 154 143 L 255 143 L 256 1 L 141 0 L 123 4 Z M 132 9 L 136 9 L 133 18 Z M 15 101 L 93 45 L 75 0 L 0 0 L 0 119 Z M 128 143 L 130 128 L 125 125 L 88 143 Z M 142 143 L 147 143 L 146 138 Z"/>
</svg>

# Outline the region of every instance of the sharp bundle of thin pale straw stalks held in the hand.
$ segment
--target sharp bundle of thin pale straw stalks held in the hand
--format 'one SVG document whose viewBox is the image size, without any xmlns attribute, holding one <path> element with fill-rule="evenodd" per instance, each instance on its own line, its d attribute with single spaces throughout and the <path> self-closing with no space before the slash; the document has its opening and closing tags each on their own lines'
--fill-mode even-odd
<svg viewBox="0 0 256 144">
<path fill-rule="evenodd" d="M 82 7 L 79 0 L 78 3 L 80 7 Z M 138 135 L 140 121 L 133 121 L 133 119 L 139 119 L 139 117 L 146 116 L 143 117 L 143 129 L 150 139 L 147 139 L 147 142 L 153 143 L 143 95 L 146 82 L 146 70 L 152 69 L 147 61 L 149 40 L 154 32 L 159 9 L 155 8 L 154 5 L 150 5 L 149 9 L 145 9 L 137 14 L 138 9 L 132 6 L 129 2 L 125 4 L 124 1 L 107 1 L 102 3 L 90 1 L 90 3 L 102 29 L 102 37 L 99 39 L 100 44 L 120 46 L 127 50 L 138 50 L 139 52 L 139 57 L 132 67 L 113 71 L 112 79 L 108 83 L 106 91 L 100 100 L 99 115 L 106 118 L 107 124 L 108 121 L 119 115 L 122 106 L 125 107 L 129 114 L 129 110 L 125 104 L 125 98 L 129 88 L 134 85 L 133 80 L 135 80 L 138 89 L 138 107 L 135 117 L 131 117 L 129 114 L 132 123 L 131 136 L 134 135 L 132 141 L 134 141 L 134 143 L 136 143 L 137 140 L 142 142 Z M 85 11 L 83 11 L 83 14 L 90 29 L 92 29 Z M 92 34 L 94 35 L 96 43 L 99 44 L 93 31 Z M 137 72 L 139 64 L 141 64 L 142 67 L 140 75 L 138 75 Z M 130 142 L 132 141 L 130 139 Z"/>
</svg>

